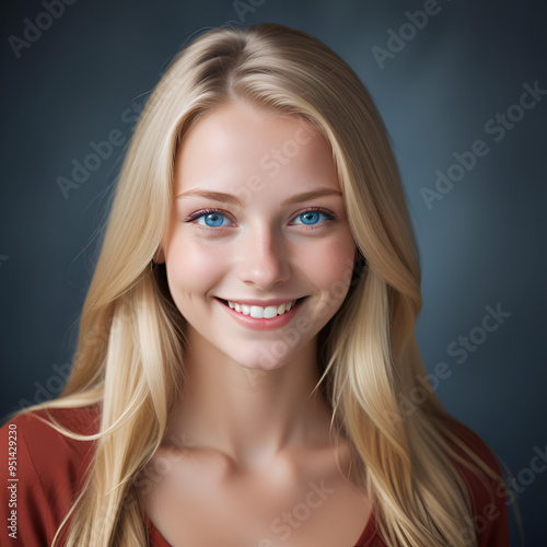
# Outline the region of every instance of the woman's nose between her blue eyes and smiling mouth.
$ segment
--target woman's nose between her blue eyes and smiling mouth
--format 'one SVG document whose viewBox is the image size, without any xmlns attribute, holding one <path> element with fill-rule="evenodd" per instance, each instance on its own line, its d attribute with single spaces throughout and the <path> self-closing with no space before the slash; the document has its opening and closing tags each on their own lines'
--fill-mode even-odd
<svg viewBox="0 0 547 547">
<path fill-rule="evenodd" d="M 289 280 L 289 248 L 281 233 L 266 226 L 249 228 L 238 243 L 238 274 L 243 282 L 267 291 Z"/>
</svg>

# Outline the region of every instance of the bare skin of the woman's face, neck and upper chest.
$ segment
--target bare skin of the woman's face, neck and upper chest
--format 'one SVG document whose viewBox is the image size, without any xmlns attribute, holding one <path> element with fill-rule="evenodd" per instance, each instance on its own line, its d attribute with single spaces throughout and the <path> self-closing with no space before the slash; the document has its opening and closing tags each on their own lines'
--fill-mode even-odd
<svg viewBox="0 0 547 547">
<path fill-rule="evenodd" d="M 354 545 L 370 507 L 347 478 L 328 403 L 312 394 L 317 333 L 349 290 L 356 254 L 327 141 L 302 119 L 223 105 L 181 143 L 175 197 L 159 261 L 187 321 L 187 384 L 150 464 L 166 462 L 143 496 L 148 514 L 175 543 L 209 545 L 209 534 L 210 545 Z M 266 319 L 249 328 L 219 299 L 303 300 L 289 322 L 261 329 Z M 322 503 L 312 481 L 331 489 Z M 283 519 L 306 499 L 318 504 L 305 525 Z"/>
</svg>

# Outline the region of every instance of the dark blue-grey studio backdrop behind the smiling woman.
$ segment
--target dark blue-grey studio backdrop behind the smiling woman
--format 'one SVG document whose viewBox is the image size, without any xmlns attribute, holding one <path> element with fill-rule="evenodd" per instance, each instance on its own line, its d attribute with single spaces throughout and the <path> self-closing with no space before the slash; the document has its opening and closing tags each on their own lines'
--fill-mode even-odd
<svg viewBox="0 0 547 547">
<path fill-rule="evenodd" d="M 523 84 L 547 90 L 546 8 L 539 0 L 439 0 L 440 12 L 381 68 L 372 48 L 385 49 L 388 30 L 397 33 L 405 12 L 423 5 L 266 0 L 241 18 L 232 1 L 79 0 L 18 58 L 9 36 L 23 38 L 25 18 L 34 23 L 46 10 L 2 2 L 0 415 L 61 389 L 124 147 L 67 199 L 57 178 L 71 178 L 72 161 L 93 152 L 90 142 L 113 130 L 129 138 L 132 108 L 196 33 L 229 21 L 282 23 L 329 45 L 371 91 L 421 249 L 418 337 L 427 368 L 447 364 L 439 397 L 515 474 L 527 545 L 545 545 L 547 473 L 531 465 L 547 450 L 547 96 L 499 142 L 485 125 L 519 102 Z M 47 26 L 47 18 L 39 21 Z M 428 209 L 420 188 L 434 188 L 435 171 L 446 173 L 453 154 L 478 139 L 489 153 Z M 498 305 L 511 314 L 499 328 L 484 340 L 475 330 L 481 344 L 465 359 L 451 356 L 450 345 Z M 515 539 L 514 519 L 511 526 Z"/>
</svg>

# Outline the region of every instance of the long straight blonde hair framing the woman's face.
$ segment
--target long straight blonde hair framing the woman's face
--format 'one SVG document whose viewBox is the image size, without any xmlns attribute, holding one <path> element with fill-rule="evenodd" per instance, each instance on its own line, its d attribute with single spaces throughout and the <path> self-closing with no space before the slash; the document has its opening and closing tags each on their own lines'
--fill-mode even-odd
<svg viewBox="0 0 547 547">
<path fill-rule="evenodd" d="M 385 542 L 468 545 L 461 531 L 468 529 L 472 504 L 456 463 L 469 466 L 470 458 L 480 467 L 478 456 L 452 432 L 432 389 L 412 412 L 399 408 L 426 375 L 414 335 L 420 268 L 382 119 L 342 59 L 312 36 L 276 24 L 224 26 L 195 38 L 171 63 L 136 127 L 70 377 L 59 398 L 33 407 L 101 409 L 96 435 L 55 426 L 96 441 L 85 486 L 63 522 L 67 545 L 147 544 L 138 477 L 165 435 L 185 381 L 184 318 L 164 267 L 152 258 L 167 230 L 177 143 L 201 114 L 229 101 L 300 116 L 330 143 L 365 266 L 321 333 L 319 366 Z"/>
</svg>

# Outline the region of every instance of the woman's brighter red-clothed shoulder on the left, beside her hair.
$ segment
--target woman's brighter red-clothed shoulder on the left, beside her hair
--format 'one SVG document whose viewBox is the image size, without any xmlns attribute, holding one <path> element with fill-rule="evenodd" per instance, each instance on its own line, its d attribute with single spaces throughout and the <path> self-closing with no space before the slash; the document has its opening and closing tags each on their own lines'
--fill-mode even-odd
<svg viewBox="0 0 547 547">
<path fill-rule="evenodd" d="M 0 494 L 0 514 L 12 520 L 16 535 L 11 537 L 22 545 L 49 545 L 84 484 L 93 456 L 92 441 L 70 439 L 49 422 L 90 435 L 97 431 L 98 419 L 97 406 L 33 410 L 0 428 L 0 450 L 7 459 L 0 478 L 9 486 Z"/>
</svg>

